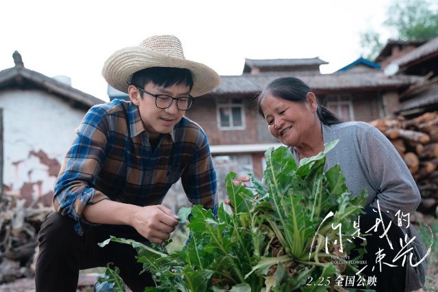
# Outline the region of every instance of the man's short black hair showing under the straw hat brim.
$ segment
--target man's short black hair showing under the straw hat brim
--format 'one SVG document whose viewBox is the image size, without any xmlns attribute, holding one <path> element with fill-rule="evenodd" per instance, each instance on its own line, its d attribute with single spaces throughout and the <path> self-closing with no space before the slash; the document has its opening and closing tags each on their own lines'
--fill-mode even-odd
<svg viewBox="0 0 438 292">
<path fill-rule="evenodd" d="M 185 68 L 152 67 L 135 72 L 131 78 L 131 85 L 144 88 L 146 83 L 168 88 L 175 84 L 185 83 L 190 90 L 193 88 L 193 76 Z"/>
</svg>

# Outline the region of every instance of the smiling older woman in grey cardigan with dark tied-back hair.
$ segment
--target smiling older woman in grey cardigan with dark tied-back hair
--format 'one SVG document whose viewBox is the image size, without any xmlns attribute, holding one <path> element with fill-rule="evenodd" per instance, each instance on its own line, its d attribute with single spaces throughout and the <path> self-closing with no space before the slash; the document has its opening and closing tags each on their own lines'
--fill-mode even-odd
<svg viewBox="0 0 438 292">
<path fill-rule="evenodd" d="M 339 164 L 346 185 L 354 195 L 363 189 L 368 192 L 370 206 L 360 218 L 361 233 L 372 229 L 364 258 L 367 260 L 364 274 L 377 277 L 378 291 L 420 289 L 425 278 L 425 248 L 415 229 L 407 224 L 408 214 L 420 204 L 420 191 L 391 142 L 370 124 L 339 120 L 318 103 L 308 85 L 294 77 L 272 81 L 258 96 L 257 105 L 269 132 L 289 146 L 297 162 L 317 155 L 324 150 L 324 143 L 339 140 L 326 156 L 326 170 Z M 400 226 L 397 218 L 402 215 L 408 220 Z M 385 236 L 381 238 L 383 226 L 377 232 L 373 228 L 381 216 L 385 229 L 391 223 L 387 235 L 392 248 Z M 413 242 L 400 252 L 400 239 L 407 245 L 413 237 Z M 398 252 L 402 254 L 409 248 L 413 250 L 407 252 L 404 263 L 404 256 L 392 261 Z M 410 254 L 413 254 L 411 262 Z"/>
</svg>

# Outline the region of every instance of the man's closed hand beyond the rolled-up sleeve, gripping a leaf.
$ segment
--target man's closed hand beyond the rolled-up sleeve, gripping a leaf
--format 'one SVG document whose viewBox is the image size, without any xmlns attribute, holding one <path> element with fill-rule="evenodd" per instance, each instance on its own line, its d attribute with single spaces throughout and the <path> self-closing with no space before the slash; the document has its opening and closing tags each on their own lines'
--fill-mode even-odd
<svg viewBox="0 0 438 292">
<path fill-rule="evenodd" d="M 163 243 L 177 228 L 179 217 L 164 205 L 140 207 L 133 213 L 131 226 L 155 243 Z"/>
</svg>

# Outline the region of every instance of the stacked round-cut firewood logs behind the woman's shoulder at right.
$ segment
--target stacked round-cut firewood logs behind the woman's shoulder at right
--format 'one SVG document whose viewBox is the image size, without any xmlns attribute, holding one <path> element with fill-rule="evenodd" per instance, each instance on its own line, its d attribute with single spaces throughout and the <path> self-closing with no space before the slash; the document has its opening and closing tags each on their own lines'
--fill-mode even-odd
<svg viewBox="0 0 438 292">
<path fill-rule="evenodd" d="M 392 142 L 422 195 L 418 211 L 435 213 L 438 205 L 438 112 L 412 119 L 402 116 L 370 122 Z"/>
</svg>

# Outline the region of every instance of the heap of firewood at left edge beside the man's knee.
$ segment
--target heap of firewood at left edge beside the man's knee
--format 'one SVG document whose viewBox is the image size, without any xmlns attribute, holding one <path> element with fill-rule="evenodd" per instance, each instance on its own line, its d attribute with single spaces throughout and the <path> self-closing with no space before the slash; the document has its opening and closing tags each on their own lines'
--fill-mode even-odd
<svg viewBox="0 0 438 292">
<path fill-rule="evenodd" d="M 32 276 L 38 231 L 51 207 L 31 205 L 13 192 L 0 195 L 0 284 Z"/>
</svg>

